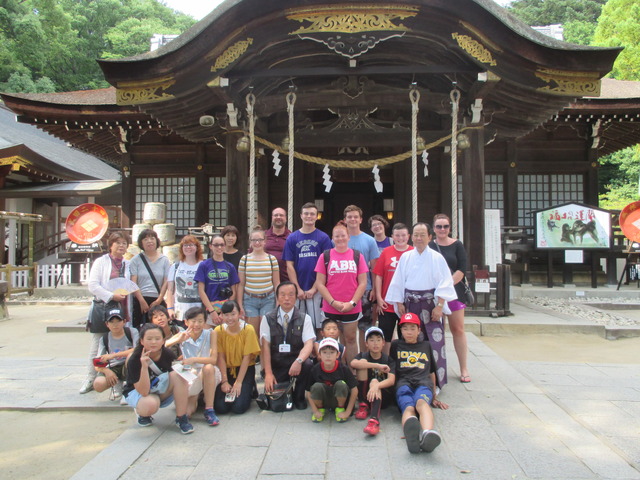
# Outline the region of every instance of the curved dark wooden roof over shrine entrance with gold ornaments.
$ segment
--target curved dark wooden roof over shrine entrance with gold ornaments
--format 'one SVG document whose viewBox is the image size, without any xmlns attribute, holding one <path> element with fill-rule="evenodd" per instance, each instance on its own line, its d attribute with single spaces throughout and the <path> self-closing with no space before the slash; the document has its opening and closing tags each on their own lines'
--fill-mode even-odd
<svg viewBox="0 0 640 480">
<path fill-rule="evenodd" d="M 242 0 L 223 3 L 159 50 L 100 65 L 119 104 L 140 106 L 193 142 L 229 128 L 230 103 L 242 118 L 250 92 L 260 131 L 281 138 L 291 88 L 307 129 L 363 109 L 380 126 L 406 127 L 412 83 L 423 128 L 426 112 L 446 120 L 455 85 L 463 107 L 482 99 L 489 128 L 513 138 L 576 98 L 598 95 L 619 51 L 545 37 L 489 0 Z M 204 114 L 220 124 L 201 127 Z"/>
</svg>

